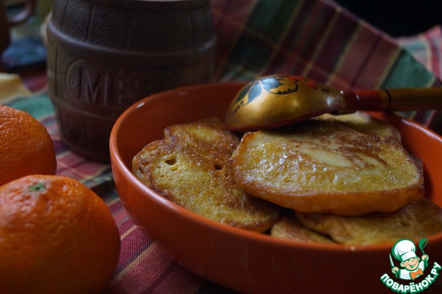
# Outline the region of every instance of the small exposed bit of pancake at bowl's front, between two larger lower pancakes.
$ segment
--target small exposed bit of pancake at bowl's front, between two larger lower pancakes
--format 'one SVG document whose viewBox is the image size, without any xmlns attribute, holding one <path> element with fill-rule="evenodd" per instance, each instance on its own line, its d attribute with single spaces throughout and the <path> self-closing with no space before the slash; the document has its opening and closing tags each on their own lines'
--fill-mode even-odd
<svg viewBox="0 0 442 294">
<path fill-rule="evenodd" d="M 270 235 L 272 237 L 293 241 L 336 244 L 336 242 L 329 237 L 301 226 L 293 212 L 285 215 L 280 221 L 275 223 L 271 227 Z"/>
</svg>

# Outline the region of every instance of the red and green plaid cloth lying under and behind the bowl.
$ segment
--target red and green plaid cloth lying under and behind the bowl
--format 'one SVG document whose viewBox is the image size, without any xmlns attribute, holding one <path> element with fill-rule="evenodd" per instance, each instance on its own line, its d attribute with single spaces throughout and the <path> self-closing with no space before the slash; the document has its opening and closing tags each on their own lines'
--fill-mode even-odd
<svg viewBox="0 0 442 294">
<path fill-rule="evenodd" d="M 439 27 L 394 39 L 327 0 L 212 0 L 211 6 L 218 34 L 215 80 L 293 73 L 338 89 L 441 85 Z M 46 93 L 4 103 L 28 111 L 48 128 L 57 150 L 57 174 L 85 183 L 108 204 L 122 248 L 105 293 L 233 293 L 175 264 L 142 235 L 122 207 L 110 165 L 87 161 L 62 145 Z M 436 111 L 401 114 L 442 131 Z"/>
</svg>

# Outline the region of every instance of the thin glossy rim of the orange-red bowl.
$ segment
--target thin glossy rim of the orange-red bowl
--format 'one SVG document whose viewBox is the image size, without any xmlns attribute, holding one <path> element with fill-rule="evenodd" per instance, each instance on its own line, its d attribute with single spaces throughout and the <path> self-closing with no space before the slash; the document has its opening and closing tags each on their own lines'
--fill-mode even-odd
<svg viewBox="0 0 442 294">
<path fill-rule="evenodd" d="M 253 232 L 250 230 L 245 230 L 242 228 L 236 228 L 233 226 L 228 226 L 223 223 L 219 223 L 218 221 L 214 221 L 212 219 L 208 219 L 206 217 L 202 217 L 199 214 L 196 214 L 195 212 L 191 212 L 190 210 L 186 210 L 182 206 L 173 203 L 172 201 L 169 201 L 168 199 L 165 199 L 161 194 L 158 194 L 157 192 L 151 190 L 151 188 L 146 187 L 141 181 L 139 181 L 135 175 L 131 172 L 131 169 L 126 166 L 124 163 L 124 160 L 122 159 L 122 156 L 119 154 L 118 149 L 118 135 L 119 135 L 119 127 L 126 122 L 131 116 L 131 113 L 133 111 L 136 111 L 140 107 L 144 107 L 145 104 L 148 104 L 151 101 L 157 100 L 157 99 L 163 99 L 164 96 L 170 95 L 171 93 L 182 93 L 182 92 L 189 92 L 189 91 L 200 91 L 201 89 L 210 89 L 213 87 L 218 86 L 239 86 L 244 85 L 244 82 L 214 82 L 214 83 L 206 83 L 206 84 L 195 84 L 191 86 L 183 86 L 176 89 L 171 89 L 167 91 L 162 91 L 155 93 L 153 95 L 149 95 L 146 98 L 142 98 L 138 102 L 135 102 L 135 104 L 131 105 L 131 107 L 128 107 L 126 111 L 122 113 L 119 118 L 117 118 L 115 125 L 113 126 L 113 129 L 111 131 L 111 136 L 109 140 L 110 145 L 110 151 L 111 151 L 111 167 L 113 169 L 118 169 L 119 172 L 121 172 L 129 182 L 134 184 L 137 189 L 142 190 L 144 192 L 144 197 L 151 197 L 153 201 L 155 201 L 159 205 L 163 205 L 166 210 L 169 210 L 170 212 L 175 212 L 182 214 L 183 217 L 186 219 L 191 219 L 191 221 L 195 221 L 200 224 L 200 226 L 209 227 L 213 230 L 220 230 L 225 234 L 229 235 L 236 235 L 236 237 L 241 237 L 245 239 L 249 239 L 250 241 L 256 241 L 260 242 L 262 244 L 270 245 L 270 246 L 278 246 L 280 248 L 286 248 L 286 249 L 294 249 L 294 248 L 302 248 L 305 250 L 321 250 L 321 251 L 327 251 L 327 252 L 385 252 L 385 250 L 391 250 L 393 244 L 372 244 L 372 245 L 343 245 L 343 244 L 319 244 L 319 243 L 309 243 L 304 241 L 295 241 L 295 240 L 289 240 L 289 239 L 282 239 L 282 238 L 276 238 L 271 237 L 270 235 L 267 235 L 265 233 L 260 232 Z M 387 116 L 392 116 L 396 119 L 401 120 L 401 123 L 406 125 L 412 125 L 412 127 L 415 127 L 419 129 L 419 131 L 423 131 L 427 133 L 429 136 L 432 136 L 436 138 L 437 140 L 440 140 L 442 143 L 442 136 L 439 136 L 439 134 L 436 134 L 434 131 L 427 129 L 423 125 L 420 125 L 417 122 L 414 122 L 412 120 L 409 120 L 407 118 L 403 118 L 401 116 L 398 116 L 394 113 L 386 113 Z M 113 170 L 113 173 L 114 170 Z M 442 232 L 439 232 L 435 235 L 426 236 L 426 239 L 431 243 L 432 241 L 439 239 L 442 240 Z M 419 238 L 421 239 L 421 238 Z M 416 240 L 413 240 L 416 241 Z M 419 241 L 419 240 L 417 240 Z"/>
</svg>

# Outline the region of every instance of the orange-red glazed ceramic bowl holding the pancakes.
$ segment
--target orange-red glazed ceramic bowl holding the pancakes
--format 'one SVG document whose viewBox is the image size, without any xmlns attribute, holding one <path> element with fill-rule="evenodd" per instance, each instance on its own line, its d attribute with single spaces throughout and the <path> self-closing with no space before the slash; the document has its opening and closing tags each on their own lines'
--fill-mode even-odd
<svg viewBox="0 0 442 294">
<path fill-rule="evenodd" d="M 137 226 L 159 241 L 177 263 L 242 293 L 392 293 L 388 286 L 394 282 L 410 284 L 391 273 L 392 246 L 307 244 L 224 226 L 167 201 L 137 181 L 131 161 L 144 145 L 162 138 L 169 125 L 208 116 L 223 119 L 242 86 L 204 84 L 157 93 L 117 120 L 110 140 L 113 176 Z M 374 115 L 395 125 L 405 147 L 423 160 L 425 196 L 442 205 L 442 138 L 398 116 Z M 442 264 L 442 233 L 427 239 L 430 264 L 424 275 L 430 274 L 434 261 Z M 416 251 L 421 256 L 419 248 Z M 399 266 L 395 259 L 394 263 Z M 428 290 L 432 286 L 436 285 Z"/>
</svg>

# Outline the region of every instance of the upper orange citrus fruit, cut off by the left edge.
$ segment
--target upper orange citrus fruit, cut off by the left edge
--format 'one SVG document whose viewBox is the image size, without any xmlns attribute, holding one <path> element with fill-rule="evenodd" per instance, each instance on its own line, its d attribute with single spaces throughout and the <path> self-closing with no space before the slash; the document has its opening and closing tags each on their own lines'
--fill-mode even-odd
<svg viewBox="0 0 442 294">
<path fill-rule="evenodd" d="M 29 174 L 55 174 L 48 131 L 29 113 L 0 105 L 0 185 Z"/>
</svg>

